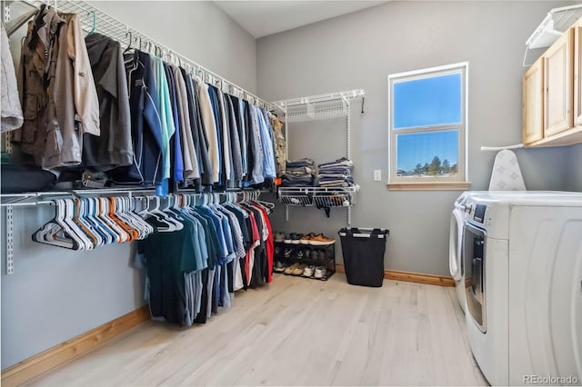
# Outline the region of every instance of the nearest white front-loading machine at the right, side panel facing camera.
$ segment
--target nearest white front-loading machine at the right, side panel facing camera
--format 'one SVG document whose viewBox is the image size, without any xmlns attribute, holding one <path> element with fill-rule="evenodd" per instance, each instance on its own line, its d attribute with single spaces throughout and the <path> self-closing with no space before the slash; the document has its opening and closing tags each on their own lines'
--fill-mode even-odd
<svg viewBox="0 0 582 387">
<path fill-rule="evenodd" d="M 582 193 L 479 193 L 463 242 L 467 337 L 492 385 L 582 383 Z"/>
</svg>

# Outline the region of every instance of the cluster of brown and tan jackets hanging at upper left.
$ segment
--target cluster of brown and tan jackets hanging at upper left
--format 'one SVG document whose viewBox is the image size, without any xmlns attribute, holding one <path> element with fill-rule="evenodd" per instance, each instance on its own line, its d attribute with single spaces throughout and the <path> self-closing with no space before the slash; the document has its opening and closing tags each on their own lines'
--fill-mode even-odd
<svg viewBox="0 0 582 387">
<path fill-rule="evenodd" d="M 82 162 L 83 134 L 99 135 L 99 103 L 78 16 L 41 5 L 28 23 L 18 71 L 25 123 L 15 132 L 46 169 Z"/>
</svg>

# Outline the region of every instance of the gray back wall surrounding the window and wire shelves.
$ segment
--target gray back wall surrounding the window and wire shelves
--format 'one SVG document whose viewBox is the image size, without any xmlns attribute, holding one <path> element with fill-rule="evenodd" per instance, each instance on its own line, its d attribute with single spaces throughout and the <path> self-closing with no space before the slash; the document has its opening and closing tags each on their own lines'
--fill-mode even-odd
<svg viewBox="0 0 582 387">
<path fill-rule="evenodd" d="M 521 143 L 525 42 L 549 9 L 565 4 L 396 1 L 257 40 L 258 90 L 267 100 L 365 89 L 366 113 L 353 107 L 352 158 L 362 189 L 352 224 L 390 230 L 386 269 L 449 275 L 449 219 L 459 194 L 387 190 L 387 75 L 469 62 L 468 179 L 471 190 L 487 190 L 495 153 L 479 148 Z M 290 158 L 324 162 L 340 153 L 328 139 L 343 138 L 341 122 L 309 125 L 290 126 Z M 576 156 L 579 165 L 579 154 L 579 147 L 517 151 L 527 188 L 568 189 L 567 164 Z M 372 181 L 375 169 L 383 182 Z M 344 210 L 333 211 L 326 219 L 321 210 L 290 208 L 286 222 L 279 209 L 274 226 L 333 235 L 346 223 Z"/>
</svg>

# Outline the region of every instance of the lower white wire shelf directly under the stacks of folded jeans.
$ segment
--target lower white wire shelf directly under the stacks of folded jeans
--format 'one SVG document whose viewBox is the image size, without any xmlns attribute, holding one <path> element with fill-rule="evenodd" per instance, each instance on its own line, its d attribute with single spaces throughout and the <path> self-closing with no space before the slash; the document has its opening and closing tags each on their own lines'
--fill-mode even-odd
<svg viewBox="0 0 582 387">
<path fill-rule="evenodd" d="M 277 199 L 286 205 L 350 207 L 356 204 L 359 185 L 351 187 L 279 187 Z"/>
</svg>

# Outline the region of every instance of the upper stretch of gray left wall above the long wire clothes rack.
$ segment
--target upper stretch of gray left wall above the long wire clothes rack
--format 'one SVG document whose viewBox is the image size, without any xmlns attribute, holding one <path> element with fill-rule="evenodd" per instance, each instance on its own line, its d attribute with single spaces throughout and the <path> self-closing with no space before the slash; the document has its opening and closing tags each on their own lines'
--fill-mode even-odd
<svg viewBox="0 0 582 387">
<path fill-rule="evenodd" d="M 255 39 L 210 1 L 90 1 L 186 56 L 256 92 Z M 97 25 L 98 29 L 98 25 Z"/>
</svg>

